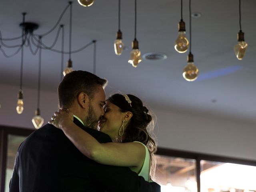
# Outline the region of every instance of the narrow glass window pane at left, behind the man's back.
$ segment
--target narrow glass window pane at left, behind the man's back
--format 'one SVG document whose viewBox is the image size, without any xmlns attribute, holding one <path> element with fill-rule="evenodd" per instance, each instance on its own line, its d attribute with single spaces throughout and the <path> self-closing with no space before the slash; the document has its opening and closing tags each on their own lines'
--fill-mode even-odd
<svg viewBox="0 0 256 192">
<path fill-rule="evenodd" d="M 7 159 L 6 159 L 6 176 L 5 176 L 5 192 L 9 191 L 9 182 L 12 177 L 16 153 L 20 144 L 26 139 L 25 136 L 8 135 L 7 143 Z"/>
</svg>

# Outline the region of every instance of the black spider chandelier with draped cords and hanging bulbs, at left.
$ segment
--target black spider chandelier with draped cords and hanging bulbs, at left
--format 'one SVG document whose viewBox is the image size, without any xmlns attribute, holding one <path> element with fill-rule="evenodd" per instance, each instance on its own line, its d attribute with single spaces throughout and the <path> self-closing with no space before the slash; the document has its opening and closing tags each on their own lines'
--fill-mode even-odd
<svg viewBox="0 0 256 192">
<path fill-rule="evenodd" d="M 86 2 L 88 3 L 89 1 L 79 1 L 78 2 Z M 90 4 L 87 4 L 87 6 L 90 6 L 93 4 L 94 1 L 90 1 Z M 85 4 L 86 4 L 85 3 Z M 58 28 L 56 37 L 54 42 L 52 43 L 52 45 L 50 46 L 46 46 L 43 42 L 42 42 L 42 37 L 47 36 L 48 34 L 50 34 L 54 29 L 57 28 L 57 26 L 59 25 L 64 13 L 66 12 L 66 10 L 70 8 L 70 30 L 69 30 L 69 51 L 66 52 L 64 51 L 64 25 L 61 24 Z M 38 24 L 33 23 L 33 22 L 26 22 L 25 21 L 25 16 L 26 13 L 22 13 L 22 23 L 20 24 L 20 27 L 22 28 L 22 34 L 19 37 L 14 37 L 14 38 L 2 38 L 2 34 L 0 32 L 0 51 L 3 53 L 3 55 L 6 58 L 10 58 L 15 56 L 16 54 L 18 54 L 18 52 L 21 52 L 21 62 L 20 62 L 20 90 L 18 92 L 18 101 L 17 101 L 17 106 L 16 106 L 16 111 L 18 114 L 22 114 L 23 110 L 24 110 L 24 93 L 22 90 L 22 80 L 23 80 L 23 65 L 24 65 L 24 46 L 28 47 L 30 52 L 32 53 L 32 55 L 36 55 L 37 52 L 39 52 L 39 69 L 38 69 L 38 104 L 37 104 L 37 108 L 35 111 L 35 116 L 32 118 L 32 123 L 34 125 L 35 128 L 40 128 L 44 122 L 44 119 L 40 116 L 40 108 L 39 108 L 39 104 L 40 104 L 40 80 L 41 80 L 41 54 L 42 54 L 42 49 L 45 50 L 50 50 L 52 52 L 56 52 L 56 53 L 60 53 L 61 54 L 61 76 L 60 76 L 60 80 L 62 80 L 62 74 L 66 75 L 67 73 L 71 72 L 72 69 L 72 60 L 71 60 L 71 54 L 72 53 L 77 53 L 77 52 L 81 52 L 82 50 L 84 50 L 85 48 L 87 48 L 88 46 L 94 44 L 94 52 L 96 50 L 96 40 L 93 40 L 92 42 L 84 45 L 82 48 L 79 48 L 77 50 L 71 50 L 71 45 L 72 45 L 72 2 L 68 2 L 68 5 L 66 6 L 66 8 L 62 11 L 57 23 L 54 25 L 54 27 L 52 29 L 50 29 L 48 32 L 44 33 L 44 34 L 35 34 L 34 31 L 39 27 Z M 61 50 L 57 50 L 54 48 L 54 46 L 56 45 L 56 42 L 59 38 L 60 35 L 60 31 L 62 31 L 62 45 L 61 45 Z M 5 43 L 5 41 L 14 41 L 14 40 L 19 40 L 21 39 L 21 44 L 17 44 L 17 45 L 8 45 Z M 33 48 L 34 46 L 34 48 Z M 6 51 L 3 48 L 17 48 L 16 52 L 14 52 L 14 54 L 8 55 L 6 54 Z M 63 70 L 63 61 L 64 61 L 64 54 L 69 54 L 69 59 L 67 62 L 67 68 Z M 95 68 L 96 68 L 96 64 L 95 64 L 95 54 L 94 54 L 94 73 L 95 73 Z"/>
</svg>

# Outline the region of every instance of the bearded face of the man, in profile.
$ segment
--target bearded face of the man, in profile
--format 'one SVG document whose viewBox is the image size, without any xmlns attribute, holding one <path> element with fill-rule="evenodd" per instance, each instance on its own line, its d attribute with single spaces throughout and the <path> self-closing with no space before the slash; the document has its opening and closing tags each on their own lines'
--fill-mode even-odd
<svg viewBox="0 0 256 192">
<path fill-rule="evenodd" d="M 88 108 L 88 116 L 85 120 L 85 125 L 89 128 L 96 129 L 100 117 L 104 115 L 103 106 L 105 104 L 105 91 L 102 86 L 98 86 L 98 92 L 94 94 L 94 97 L 90 100 Z"/>
</svg>

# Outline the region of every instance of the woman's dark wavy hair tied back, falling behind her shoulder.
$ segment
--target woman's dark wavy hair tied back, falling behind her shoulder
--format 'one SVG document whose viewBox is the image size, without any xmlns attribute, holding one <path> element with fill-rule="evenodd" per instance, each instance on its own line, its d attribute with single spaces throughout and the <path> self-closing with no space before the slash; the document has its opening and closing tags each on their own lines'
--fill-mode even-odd
<svg viewBox="0 0 256 192">
<path fill-rule="evenodd" d="M 131 103 L 122 94 L 114 94 L 108 98 L 108 101 L 118 106 L 121 112 L 132 112 L 133 115 L 126 126 L 122 142 L 139 141 L 147 146 L 151 160 L 150 177 L 154 178 L 156 168 L 154 154 L 157 149 L 156 140 L 153 137 L 154 118 L 138 97 L 131 94 L 127 94 L 127 96 Z"/>
</svg>

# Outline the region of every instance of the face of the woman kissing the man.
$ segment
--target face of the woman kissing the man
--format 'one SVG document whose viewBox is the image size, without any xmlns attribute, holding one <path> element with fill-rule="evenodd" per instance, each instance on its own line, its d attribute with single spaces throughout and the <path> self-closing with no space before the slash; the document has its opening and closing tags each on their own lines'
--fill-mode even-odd
<svg viewBox="0 0 256 192">
<path fill-rule="evenodd" d="M 104 118 L 99 121 L 98 127 L 101 132 L 108 134 L 113 140 L 118 135 L 125 114 L 108 100 L 104 105 L 104 111 Z"/>
</svg>

